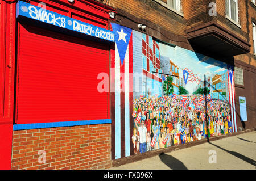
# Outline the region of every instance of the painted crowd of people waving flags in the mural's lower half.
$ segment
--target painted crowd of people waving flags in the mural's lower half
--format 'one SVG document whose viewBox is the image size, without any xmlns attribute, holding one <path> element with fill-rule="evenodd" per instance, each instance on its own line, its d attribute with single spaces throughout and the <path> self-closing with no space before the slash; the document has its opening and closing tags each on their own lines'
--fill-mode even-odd
<svg viewBox="0 0 256 181">
<path fill-rule="evenodd" d="M 134 99 L 134 153 L 231 133 L 229 104 L 207 98 L 172 94 Z"/>
</svg>

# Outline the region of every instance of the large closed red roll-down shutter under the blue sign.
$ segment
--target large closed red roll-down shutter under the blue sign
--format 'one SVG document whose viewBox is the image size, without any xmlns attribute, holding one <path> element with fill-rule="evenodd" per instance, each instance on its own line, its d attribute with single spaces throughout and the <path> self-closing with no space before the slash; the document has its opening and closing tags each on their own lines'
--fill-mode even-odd
<svg viewBox="0 0 256 181">
<path fill-rule="evenodd" d="M 108 45 L 19 25 L 16 123 L 109 119 Z"/>
</svg>

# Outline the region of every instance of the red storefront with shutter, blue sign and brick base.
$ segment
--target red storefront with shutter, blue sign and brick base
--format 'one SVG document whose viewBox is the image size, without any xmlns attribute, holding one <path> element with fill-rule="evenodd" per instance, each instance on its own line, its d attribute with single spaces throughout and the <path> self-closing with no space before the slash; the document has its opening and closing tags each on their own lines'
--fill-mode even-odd
<svg viewBox="0 0 256 181">
<path fill-rule="evenodd" d="M 89 1 L 18 1 L 1 2 L 1 10 L 11 21 L 3 168 L 109 167 L 110 94 L 98 91 L 97 77 L 109 75 L 113 9 Z"/>
</svg>

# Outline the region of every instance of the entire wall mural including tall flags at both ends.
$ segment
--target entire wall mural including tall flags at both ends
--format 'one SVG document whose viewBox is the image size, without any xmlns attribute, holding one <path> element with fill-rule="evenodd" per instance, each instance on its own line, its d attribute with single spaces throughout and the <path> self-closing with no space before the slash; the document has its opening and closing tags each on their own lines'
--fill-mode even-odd
<svg viewBox="0 0 256 181">
<path fill-rule="evenodd" d="M 232 66 L 111 25 L 113 157 L 237 131 Z"/>
</svg>

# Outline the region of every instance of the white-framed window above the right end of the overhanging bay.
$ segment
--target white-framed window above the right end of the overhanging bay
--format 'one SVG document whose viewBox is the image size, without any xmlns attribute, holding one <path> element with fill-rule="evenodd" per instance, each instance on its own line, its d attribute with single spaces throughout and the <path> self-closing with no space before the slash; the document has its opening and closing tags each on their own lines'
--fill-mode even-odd
<svg viewBox="0 0 256 181">
<path fill-rule="evenodd" d="M 226 15 L 238 23 L 238 0 L 226 0 Z"/>
</svg>

